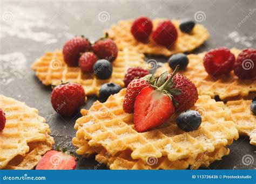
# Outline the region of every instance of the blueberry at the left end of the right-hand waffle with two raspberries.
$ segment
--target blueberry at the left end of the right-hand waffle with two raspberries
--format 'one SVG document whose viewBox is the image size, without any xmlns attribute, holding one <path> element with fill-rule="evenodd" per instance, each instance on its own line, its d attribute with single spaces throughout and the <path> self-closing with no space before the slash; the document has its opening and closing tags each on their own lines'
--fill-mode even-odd
<svg viewBox="0 0 256 184">
<path fill-rule="evenodd" d="M 188 58 L 186 54 L 178 53 L 173 54 L 168 60 L 169 66 L 174 70 L 177 65 L 179 65 L 179 69 L 183 70 L 187 67 Z"/>
</svg>

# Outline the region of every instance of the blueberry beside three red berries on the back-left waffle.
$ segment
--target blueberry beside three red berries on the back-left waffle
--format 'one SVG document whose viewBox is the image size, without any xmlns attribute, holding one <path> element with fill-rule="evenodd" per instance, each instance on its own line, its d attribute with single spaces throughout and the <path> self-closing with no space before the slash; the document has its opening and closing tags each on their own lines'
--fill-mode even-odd
<svg viewBox="0 0 256 184">
<path fill-rule="evenodd" d="M 105 59 L 96 61 L 96 63 L 93 65 L 93 73 L 98 79 L 109 79 L 109 77 L 112 75 L 111 62 Z"/>
</svg>

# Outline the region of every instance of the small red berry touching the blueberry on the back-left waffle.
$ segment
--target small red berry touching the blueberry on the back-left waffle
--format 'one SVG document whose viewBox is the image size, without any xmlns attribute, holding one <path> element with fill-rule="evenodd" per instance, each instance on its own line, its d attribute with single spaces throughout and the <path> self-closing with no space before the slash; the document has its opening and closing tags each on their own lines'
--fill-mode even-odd
<svg viewBox="0 0 256 184">
<path fill-rule="evenodd" d="M 86 72 L 93 72 L 93 65 L 96 63 L 97 57 L 92 52 L 85 52 L 83 53 L 79 60 L 79 67 L 82 69 L 83 73 Z"/>
</svg>

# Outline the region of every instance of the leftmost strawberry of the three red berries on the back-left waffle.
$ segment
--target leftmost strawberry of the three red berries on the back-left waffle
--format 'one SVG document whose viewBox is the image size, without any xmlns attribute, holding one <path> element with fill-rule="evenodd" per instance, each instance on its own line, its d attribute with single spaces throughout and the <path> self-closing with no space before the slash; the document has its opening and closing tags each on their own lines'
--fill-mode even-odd
<svg viewBox="0 0 256 184">
<path fill-rule="evenodd" d="M 71 38 L 63 46 L 64 61 L 68 66 L 74 67 L 78 65 L 80 54 L 91 51 L 90 41 L 84 37 Z"/>
</svg>

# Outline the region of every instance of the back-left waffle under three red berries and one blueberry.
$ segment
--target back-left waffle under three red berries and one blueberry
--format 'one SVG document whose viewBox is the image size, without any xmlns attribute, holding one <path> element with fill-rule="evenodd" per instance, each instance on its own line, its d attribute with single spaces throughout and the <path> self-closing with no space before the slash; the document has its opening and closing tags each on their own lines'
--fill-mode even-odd
<svg viewBox="0 0 256 184">
<path fill-rule="evenodd" d="M 124 76 L 130 67 L 146 68 L 144 55 L 136 51 L 124 49 L 118 52 L 117 59 L 112 62 L 113 73 L 110 79 L 99 80 L 93 73 L 83 74 L 79 67 L 68 67 L 63 60 L 62 51 L 46 52 L 31 66 L 36 76 L 46 86 L 62 82 L 80 83 L 86 95 L 98 95 L 102 84 L 114 82 L 124 87 Z"/>
</svg>

